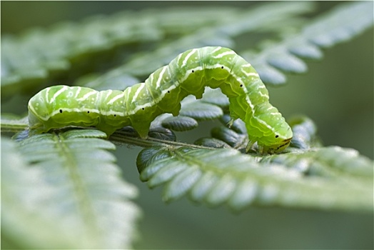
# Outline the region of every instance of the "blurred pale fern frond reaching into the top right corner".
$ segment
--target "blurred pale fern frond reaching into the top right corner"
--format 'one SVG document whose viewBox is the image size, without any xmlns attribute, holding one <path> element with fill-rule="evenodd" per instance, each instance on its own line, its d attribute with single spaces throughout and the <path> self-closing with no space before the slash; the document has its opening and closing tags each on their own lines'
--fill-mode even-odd
<svg viewBox="0 0 374 250">
<path fill-rule="evenodd" d="M 373 26 L 373 2 L 345 3 L 310 21 L 295 34 L 287 34 L 282 41 L 263 44 L 259 53 L 243 51 L 244 59 L 251 61 L 266 84 L 285 83 L 281 71 L 300 74 L 307 70 L 302 59 L 320 59 L 320 48 L 327 48 Z"/>
</svg>

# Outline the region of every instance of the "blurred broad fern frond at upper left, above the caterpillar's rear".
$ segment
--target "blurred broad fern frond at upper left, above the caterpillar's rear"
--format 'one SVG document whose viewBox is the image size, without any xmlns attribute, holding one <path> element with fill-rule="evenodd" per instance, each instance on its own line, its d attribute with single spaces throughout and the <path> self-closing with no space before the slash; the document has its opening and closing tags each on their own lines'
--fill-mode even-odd
<svg viewBox="0 0 374 250">
<path fill-rule="evenodd" d="M 198 14 L 193 19 L 191 11 Z M 111 16 L 91 16 L 79 23 L 62 22 L 49 29 L 31 29 L 21 36 L 4 36 L 1 91 L 29 91 L 31 85 L 41 86 L 71 70 L 84 74 L 91 71 L 95 59 L 103 65 L 113 61 L 118 49 L 127 48 L 130 54 L 138 45 L 155 44 L 168 36 L 183 36 L 193 31 L 194 25 L 213 25 L 221 21 L 216 16 L 223 11 L 230 18 L 230 13 L 235 16 L 238 10 L 201 7 L 162 12 L 122 11 Z M 190 18 L 176 22 L 177 16 Z"/>
</svg>

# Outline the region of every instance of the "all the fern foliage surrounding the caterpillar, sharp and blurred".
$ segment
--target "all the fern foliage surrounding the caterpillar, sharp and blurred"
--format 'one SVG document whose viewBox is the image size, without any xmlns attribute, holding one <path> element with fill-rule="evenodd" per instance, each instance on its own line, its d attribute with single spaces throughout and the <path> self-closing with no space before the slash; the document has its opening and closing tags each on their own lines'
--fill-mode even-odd
<svg viewBox="0 0 374 250">
<path fill-rule="evenodd" d="M 181 51 L 206 45 L 230 46 L 267 84 L 281 86 L 285 73 L 304 73 L 307 60 L 322 59 L 322 49 L 373 26 L 372 6 L 369 1 L 338 4 L 308 19 L 304 14 L 315 9 L 308 1 L 251 9 L 145 9 L 4 35 L 2 104 L 21 93 L 19 106 L 26 112 L 31 94 L 61 81 L 125 89 Z M 258 34 L 259 41 L 238 42 L 240 36 Z M 222 124 L 210 135 L 198 134 L 193 143 L 179 141 L 182 134 L 174 133 L 215 119 Z M 146 148 L 136 162 L 141 181 L 151 188 L 163 185 L 164 201 L 186 196 L 233 211 L 253 206 L 373 211 L 373 161 L 354 149 L 323 146 L 308 116 L 287 119 L 294 132 L 290 147 L 265 156 L 256 153 L 256 146 L 243 154 L 246 128 L 241 121 L 228 128 L 229 120 L 228 99 L 211 89 L 201 100 L 184 99 L 179 116 L 158 116 L 148 139 L 139 139 L 131 127 L 108 140 L 98 130 L 71 128 L 29 137 L 26 117 L 1 114 L 1 131 L 17 133 L 13 141 L 1 136 L 1 243 L 13 249 L 130 248 L 139 216 L 131 201 L 137 190 L 123 180 L 119 166 L 131 169 L 133 163 L 115 164 L 112 142 Z"/>
</svg>

